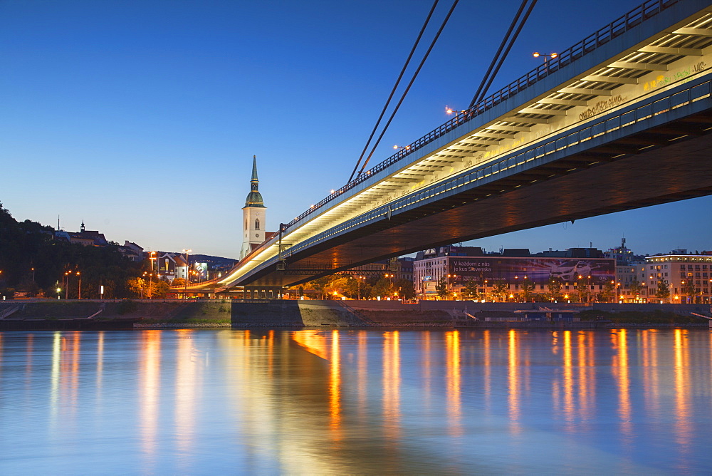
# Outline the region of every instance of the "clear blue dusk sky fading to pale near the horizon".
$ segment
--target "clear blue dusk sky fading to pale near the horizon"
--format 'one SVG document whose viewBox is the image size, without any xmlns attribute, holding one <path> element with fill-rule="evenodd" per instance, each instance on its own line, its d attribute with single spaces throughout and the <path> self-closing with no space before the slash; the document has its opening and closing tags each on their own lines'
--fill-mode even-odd
<svg viewBox="0 0 712 476">
<path fill-rule="evenodd" d="M 446 105 L 466 108 L 519 4 L 460 1 L 371 165 L 444 123 Z M 540 0 L 490 92 L 538 66 L 533 51 L 563 51 L 637 4 Z M 0 202 L 20 221 L 59 215 L 120 244 L 237 258 L 252 156 L 268 230 L 344 185 L 430 7 L 0 0 Z M 625 236 L 637 253 L 702 251 L 711 208 L 704 197 L 471 244 L 608 249 Z"/>
</svg>

